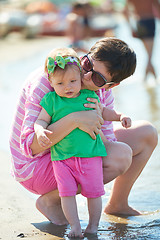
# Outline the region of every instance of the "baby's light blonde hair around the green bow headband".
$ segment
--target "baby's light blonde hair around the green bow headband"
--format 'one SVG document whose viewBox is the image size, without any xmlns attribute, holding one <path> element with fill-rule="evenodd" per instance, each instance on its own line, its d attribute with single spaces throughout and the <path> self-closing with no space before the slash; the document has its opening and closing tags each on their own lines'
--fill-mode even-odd
<svg viewBox="0 0 160 240">
<path fill-rule="evenodd" d="M 53 59 L 56 59 L 56 57 L 58 55 L 61 55 L 62 57 L 75 57 L 80 62 L 77 53 L 72 48 L 66 48 L 66 47 L 65 48 L 54 48 L 46 57 L 45 69 L 44 69 L 45 73 L 48 74 L 48 68 L 47 68 L 48 58 L 51 57 Z M 75 66 L 74 65 L 65 65 L 65 70 L 67 70 L 69 67 L 75 67 Z M 60 71 L 61 72 L 63 71 L 65 73 L 65 71 L 63 69 L 56 66 L 54 73 L 52 73 L 52 74 L 55 74 L 56 72 L 60 72 Z"/>
</svg>

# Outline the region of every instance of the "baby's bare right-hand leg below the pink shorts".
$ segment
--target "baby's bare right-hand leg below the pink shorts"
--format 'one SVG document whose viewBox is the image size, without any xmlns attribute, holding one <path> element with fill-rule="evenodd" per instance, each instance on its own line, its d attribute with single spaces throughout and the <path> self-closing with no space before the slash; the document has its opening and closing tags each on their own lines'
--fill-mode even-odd
<svg viewBox="0 0 160 240">
<path fill-rule="evenodd" d="M 89 223 L 85 233 L 96 234 L 102 212 L 102 199 L 88 198 Z"/>
</svg>

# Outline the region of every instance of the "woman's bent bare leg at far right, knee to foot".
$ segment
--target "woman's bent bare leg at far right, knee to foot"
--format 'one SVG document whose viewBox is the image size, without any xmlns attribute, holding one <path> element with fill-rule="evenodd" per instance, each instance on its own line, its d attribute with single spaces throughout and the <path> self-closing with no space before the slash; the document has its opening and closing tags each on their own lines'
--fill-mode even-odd
<svg viewBox="0 0 160 240">
<path fill-rule="evenodd" d="M 140 212 L 128 205 L 128 196 L 157 145 L 157 131 L 149 122 L 137 121 L 131 128 L 117 129 L 115 135 L 118 141 L 132 148 L 133 158 L 129 169 L 116 178 L 104 212 L 106 214 L 139 215 Z"/>
</svg>

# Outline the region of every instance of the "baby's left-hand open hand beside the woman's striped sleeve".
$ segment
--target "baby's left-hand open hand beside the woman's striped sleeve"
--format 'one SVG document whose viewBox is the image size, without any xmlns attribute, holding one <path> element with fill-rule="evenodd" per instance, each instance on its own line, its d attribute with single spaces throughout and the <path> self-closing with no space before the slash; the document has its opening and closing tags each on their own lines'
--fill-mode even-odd
<svg viewBox="0 0 160 240">
<path fill-rule="evenodd" d="M 38 144 L 41 147 L 49 147 L 50 145 L 52 145 L 52 142 L 50 141 L 50 139 L 47 137 L 46 133 L 51 134 L 52 132 L 49 130 L 44 129 L 43 131 L 40 131 L 37 133 L 37 141 Z"/>
</svg>

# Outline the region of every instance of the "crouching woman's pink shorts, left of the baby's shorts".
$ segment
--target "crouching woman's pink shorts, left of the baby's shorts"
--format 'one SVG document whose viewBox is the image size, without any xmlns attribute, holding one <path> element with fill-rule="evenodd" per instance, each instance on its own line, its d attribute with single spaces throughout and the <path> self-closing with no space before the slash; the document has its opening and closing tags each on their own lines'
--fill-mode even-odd
<svg viewBox="0 0 160 240">
<path fill-rule="evenodd" d="M 43 195 L 57 189 L 51 154 L 38 159 L 32 178 L 20 184 L 32 193 Z"/>
</svg>

